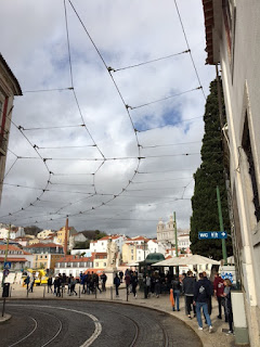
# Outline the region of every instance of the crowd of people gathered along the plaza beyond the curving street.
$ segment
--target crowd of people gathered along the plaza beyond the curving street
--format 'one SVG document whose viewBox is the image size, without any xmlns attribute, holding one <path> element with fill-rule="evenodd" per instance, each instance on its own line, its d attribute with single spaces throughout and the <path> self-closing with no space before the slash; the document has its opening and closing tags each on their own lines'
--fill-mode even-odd
<svg viewBox="0 0 260 347">
<path fill-rule="evenodd" d="M 95 294 L 106 292 L 107 275 L 103 272 L 101 275 L 93 271 L 80 273 L 79 283 L 81 294 Z M 155 296 L 159 298 L 162 293 L 170 293 L 172 291 L 172 310 L 180 311 L 180 296 L 184 296 L 185 313 L 190 319 L 196 318 L 198 329 L 203 330 L 202 310 L 205 318 L 205 323 L 212 331 L 211 312 L 212 312 L 212 297 L 218 300 L 218 319 L 224 317 L 225 322 L 229 323 L 229 334 L 233 334 L 233 312 L 231 303 L 231 287 L 232 283 L 229 279 L 223 280 L 219 273 L 216 273 L 214 280 L 211 282 L 207 278 L 206 272 L 198 274 L 198 279 L 192 271 L 183 273 L 182 275 L 159 273 L 154 271 L 151 274 L 138 274 L 136 271 L 127 269 L 125 273 L 119 271 L 115 274 L 114 286 L 116 297 L 119 297 L 119 287 L 125 282 L 127 295 L 132 293 L 136 298 L 136 288 L 143 288 L 144 297 L 148 298 Z M 67 293 L 67 295 L 78 295 L 76 292 L 77 279 L 72 274 L 67 277 L 65 273 L 48 279 L 48 293 L 53 293 L 56 296 Z M 27 277 L 25 284 L 28 292 L 32 292 L 35 278 Z M 100 287 L 101 285 L 101 287 Z"/>
</svg>

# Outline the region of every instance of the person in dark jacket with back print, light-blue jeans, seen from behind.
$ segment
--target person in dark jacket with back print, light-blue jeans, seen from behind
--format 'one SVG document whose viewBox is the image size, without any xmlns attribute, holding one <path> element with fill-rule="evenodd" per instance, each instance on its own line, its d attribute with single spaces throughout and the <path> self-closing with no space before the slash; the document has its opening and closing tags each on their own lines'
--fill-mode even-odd
<svg viewBox="0 0 260 347">
<path fill-rule="evenodd" d="M 205 279 L 203 272 L 198 274 L 199 280 L 195 283 L 194 286 L 194 305 L 196 305 L 196 316 L 198 322 L 198 330 L 203 330 L 202 312 L 206 317 L 207 324 L 209 326 L 209 333 L 212 332 L 212 324 L 208 313 L 208 298 L 211 295 L 211 288 L 208 281 Z"/>
</svg>

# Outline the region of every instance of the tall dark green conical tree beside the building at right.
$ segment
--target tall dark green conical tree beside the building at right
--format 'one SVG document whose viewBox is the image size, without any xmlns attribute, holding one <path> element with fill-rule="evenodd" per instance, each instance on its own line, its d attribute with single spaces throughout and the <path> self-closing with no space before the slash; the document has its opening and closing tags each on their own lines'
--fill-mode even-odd
<svg viewBox="0 0 260 347">
<path fill-rule="evenodd" d="M 223 103 L 224 105 L 224 103 Z M 224 106 L 223 106 L 224 107 Z M 224 181 L 224 155 L 219 119 L 217 81 L 210 83 L 210 94 L 205 106 L 205 134 L 202 146 L 202 165 L 194 175 L 192 197 L 191 249 L 193 254 L 222 259 L 221 240 L 198 240 L 199 231 L 219 231 L 217 185 L 220 189 L 225 231 L 230 232 L 227 197 Z M 231 240 L 226 240 L 227 255 L 233 254 Z"/>
</svg>

